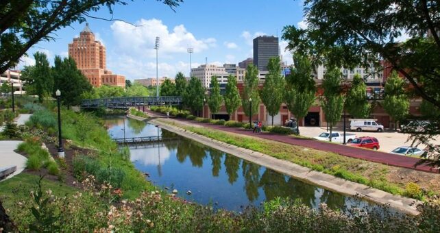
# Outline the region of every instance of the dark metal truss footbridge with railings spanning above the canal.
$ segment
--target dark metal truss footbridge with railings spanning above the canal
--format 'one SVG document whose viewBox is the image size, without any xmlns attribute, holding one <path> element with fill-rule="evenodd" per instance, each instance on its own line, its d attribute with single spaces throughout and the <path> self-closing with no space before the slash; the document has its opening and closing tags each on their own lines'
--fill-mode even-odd
<svg viewBox="0 0 440 233">
<path fill-rule="evenodd" d="M 130 108 L 138 106 L 178 106 L 182 97 L 112 97 L 102 99 L 83 99 L 81 108 Z"/>
</svg>

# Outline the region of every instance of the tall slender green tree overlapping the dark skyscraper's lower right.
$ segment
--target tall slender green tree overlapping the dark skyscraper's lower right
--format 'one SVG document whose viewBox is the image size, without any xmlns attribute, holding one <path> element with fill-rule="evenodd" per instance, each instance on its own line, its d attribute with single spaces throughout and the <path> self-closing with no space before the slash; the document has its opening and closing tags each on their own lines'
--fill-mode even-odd
<svg viewBox="0 0 440 233">
<path fill-rule="evenodd" d="M 267 70 L 269 73 L 266 75 L 265 84 L 261 90 L 261 100 L 265 104 L 267 112 L 273 116 L 280 112 L 280 106 L 283 101 L 284 90 L 284 78 L 281 75 L 281 62 L 280 57 L 269 58 L 267 64 Z"/>
</svg>

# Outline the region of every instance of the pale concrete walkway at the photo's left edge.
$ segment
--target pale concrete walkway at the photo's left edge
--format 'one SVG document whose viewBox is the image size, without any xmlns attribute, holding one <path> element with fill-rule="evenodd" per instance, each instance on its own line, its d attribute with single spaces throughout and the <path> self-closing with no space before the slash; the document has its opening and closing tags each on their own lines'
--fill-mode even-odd
<svg viewBox="0 0 440 233">
<path fill-rule="evenodd" d="M 17 125 L 24 125 L 32 114 L 20 114 L 14 121 Z M 0 128 L 0 132 L 3 131 L 3 127 Z M 21 173 L 26 167 L 27 158 L 21 154 L 14 152 L 17 149 L 17 145 L 22 143 L 19 140 L 0 140 L 0 168 L 16 166 L 16 171 L 6 177 L 6 179 L 13 177 Z"/>
</svg>

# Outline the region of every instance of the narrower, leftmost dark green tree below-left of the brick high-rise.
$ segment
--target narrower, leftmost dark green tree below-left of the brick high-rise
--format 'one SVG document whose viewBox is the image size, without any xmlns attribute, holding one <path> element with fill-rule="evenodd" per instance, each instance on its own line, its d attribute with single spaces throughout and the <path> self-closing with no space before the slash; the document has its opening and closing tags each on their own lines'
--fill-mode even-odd
<svg viewBox="0 0 440 233">
<path fill-rule="evenodd" d="M 35 66 L 27 69 L 22 78 L 27 86 L 31 86 L 32 94 L 38 95 L 38 101 L 42 102 L 45 97 L 51 96 L 53 76 L 45 53 L 36 52 L 34 58 Z"/>
</svg>

